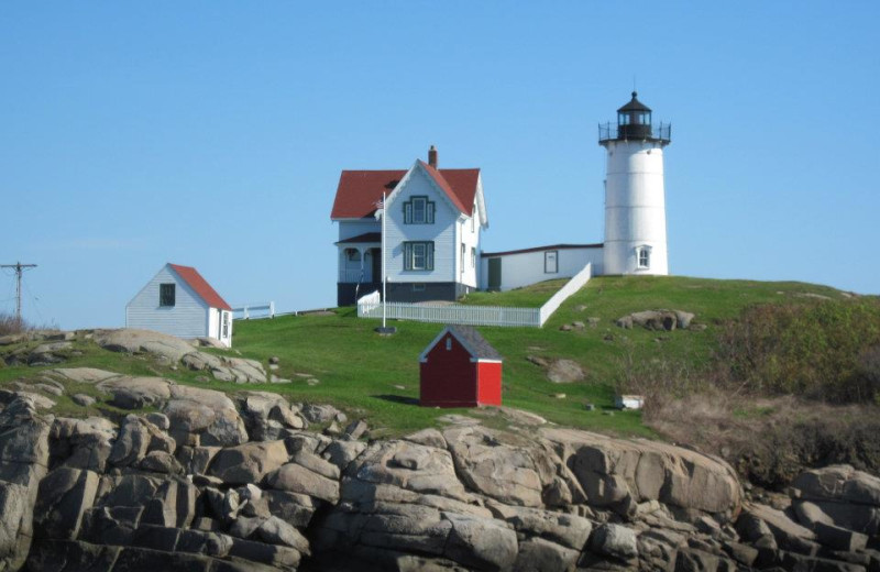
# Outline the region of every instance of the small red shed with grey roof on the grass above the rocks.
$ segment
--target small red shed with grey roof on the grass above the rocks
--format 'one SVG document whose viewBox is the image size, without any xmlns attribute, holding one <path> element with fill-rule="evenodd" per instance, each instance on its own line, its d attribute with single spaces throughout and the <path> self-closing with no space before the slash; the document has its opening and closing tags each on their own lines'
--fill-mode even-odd
<svg viewBox="0 0 880 572">
<path fill-rule="evenodd" d="M 422 406 L 502 404 L 502 356 L 474 328 L 447 326 L 419 362 Z"/>
</svg>

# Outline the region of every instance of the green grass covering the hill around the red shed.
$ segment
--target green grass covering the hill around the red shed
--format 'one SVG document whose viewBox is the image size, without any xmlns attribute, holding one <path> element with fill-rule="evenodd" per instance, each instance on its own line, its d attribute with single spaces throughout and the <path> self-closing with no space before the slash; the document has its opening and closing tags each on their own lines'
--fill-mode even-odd
<svg viewBox="0 0 880 572">
<path fill-rule="evenodd" d="M 539 307 L 564 280 L 551 280 L 509 293 L 477 293 L 466 304 Z M 801 283 L 712 280 L 683 277 L 596 277 L 569 298 L 542 329 L 480 328 L 483 336 L 504 355 L 504 404 L 526 409 L 547 419 L 591 430 L 652 437 L 637 411 L 615 411 L 614 382 L 620 359 L 631 352 L 636 360 L 686 356 L 695 364 L 708 359 L 715 344 L 716 326 L 733 318 L 749 305 L 796 299 L 810 293 L 839 297 L 832 288 Z M 585 306 L 585 309 L 578 308 Z M 632 311 L 669 308 L 696 314 L 704 331 L 651 332 L 623 330 L 614 321 Z M 583 331 L 560 331 L 563 323 L 600 318 L 598 327 Z M 400 435 L 433 426 L 439 416 L 468 410 L 435 409 L 418 406 L 418 356 L 440 331 L 440 324 L 394 321 L 398 333 L 383 338 L 373 329 L 378 320 L 359 319 L 353 308 L 341 308 L 331 316 L 285 316 L 272 320 L 239 320 L 234 327 L 234 348 L 245 358 L 264 364 L 271 356 L 280 359 L 279 377 L 292 384 L 249 385 L 199 381 L 198 372 L 170 371 L 143 356 L 130 356 L 78 342 L 84 353 L 70 356 L 66 367 L 91 366 L 132 375 L 163 375 L 180 383 L 238 392 L 272 391 L 293 402 L 331 403 L 350 417 L 363 416 L 373 435 Z M 0 349 L 2 350 L 2 349 Z M 587 372 L 586 381 L 553 384 L 544 372 L 526 360 L 527 355 L 566 358 Z M 0 369 L 0 383 L 33 376 L 38 369 Z M 297 375 L 301 374 L 301 375 Z M 319 381 L 310 386 L 308 377 Z M 554 394 L 564 393 L 559 399 Z M 585 403 L 596 410 L 584 409 Z M 59 404 L 61 406 L 62 404 Z M 77 406 L 65 402 L 64 410 Z M 81 413 L 81 411 L 80 411 Z"/>
</svg>

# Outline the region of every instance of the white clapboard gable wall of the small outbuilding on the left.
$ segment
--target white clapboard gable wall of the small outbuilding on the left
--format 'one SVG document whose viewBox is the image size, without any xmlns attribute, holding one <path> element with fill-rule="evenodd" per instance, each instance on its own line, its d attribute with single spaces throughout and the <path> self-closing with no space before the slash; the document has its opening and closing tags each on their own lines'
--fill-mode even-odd
<svg viewBox="0 0 880 572">
<path fill-rule="evenodd" d="M 174 307 L 162 308 L 158 305 L 160 284 L 170 283 L 177 285 Z M 207 302 L 166 265 L 125 306 L 125 327 L 155 330 L 178 338 L 199 338 L 209 334 L 208 310 Z"/>
</svg>

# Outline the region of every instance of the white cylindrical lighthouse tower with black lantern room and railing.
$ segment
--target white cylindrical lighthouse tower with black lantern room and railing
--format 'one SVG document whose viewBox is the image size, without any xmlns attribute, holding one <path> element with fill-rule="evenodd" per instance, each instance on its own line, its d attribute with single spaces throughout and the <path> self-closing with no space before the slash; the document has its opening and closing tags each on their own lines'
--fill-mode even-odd
<svg viewBox="0 0 880 572">
<path fill-rule="evenodd" d="M 608 152 L 605 176 L 603 274 L 669 274 L 663 191 L 663 147 L 669 123 L 651 124 L 636 98 L 617 110 L 617 125 L 600 125 Z"/>
</svg>

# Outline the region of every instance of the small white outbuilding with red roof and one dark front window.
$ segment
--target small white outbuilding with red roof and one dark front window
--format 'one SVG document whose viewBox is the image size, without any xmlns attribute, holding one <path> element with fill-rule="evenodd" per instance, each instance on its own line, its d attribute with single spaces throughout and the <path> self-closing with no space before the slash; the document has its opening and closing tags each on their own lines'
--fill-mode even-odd
<svg viewBox="0 0 880 572">
<path fill-rule="evenodd" d="M 232 308 L 191 266 L 163 266 L 125 306 L 125 327 L 232 345 Z"/>
</svg>

